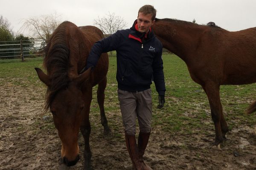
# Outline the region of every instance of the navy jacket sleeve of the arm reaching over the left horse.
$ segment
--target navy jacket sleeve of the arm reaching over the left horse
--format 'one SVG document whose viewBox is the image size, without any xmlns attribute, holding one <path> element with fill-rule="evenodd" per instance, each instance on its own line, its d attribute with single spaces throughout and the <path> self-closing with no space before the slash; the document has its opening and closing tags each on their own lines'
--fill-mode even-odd
<svg viewBox="0 0 256 170">
<path fill-rule="evenodd" d="M 116 50 L 119 45 L 120 31 L 95 42 L 87 58 L 86 68 L 95 67 L 102 53 Z"/>
</svg>

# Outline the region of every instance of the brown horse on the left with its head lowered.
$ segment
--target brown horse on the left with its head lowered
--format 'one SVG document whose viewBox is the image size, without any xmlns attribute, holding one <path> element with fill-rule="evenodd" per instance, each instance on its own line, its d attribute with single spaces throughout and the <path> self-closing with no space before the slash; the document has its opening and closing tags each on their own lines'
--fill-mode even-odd
<svg viewBox="0 0 256 170">
<path fill-rule="evenodd" d="M 89 146 L 89 111 L 92 87 L 98 84 L 97 100 L 104 132 L 110 131 L 104 111 L 105 88 L 107 84 L 108 54 L 102 54 L 96 67 L 83 74 L 87 56 L 94 42 L 103 38 L 102 31 L 94 26 L 77 27 L 65 21 L 52 34 L 44 52 L 44 68 L 39 69 L 39 79 L 47 88 L 45 109 L 50 108 L 53 121 L 61 139 L 61 158 L 67 166 L 79 160 L 79 128 L 84 137 L 84 169 L 91 169 Z"/>
</svg>

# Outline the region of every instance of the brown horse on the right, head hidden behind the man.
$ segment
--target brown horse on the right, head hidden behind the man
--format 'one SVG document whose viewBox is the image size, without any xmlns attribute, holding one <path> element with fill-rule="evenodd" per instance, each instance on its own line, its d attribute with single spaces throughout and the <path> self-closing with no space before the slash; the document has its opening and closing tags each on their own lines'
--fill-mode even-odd
<svg viewBox="0 0 256 170">
<path fill-rule="evenodd" d="M 207 26 L 181 20 L 156 19 L 154 33 L 163 47 L 186 62 L 191 78 L 207 94 L 215 126 L 215 142 L 226 139 L 220 85 L 256 82 L 256 28 L 230 32 L 214 23 Z M 254 103 L 249 113 L 255 111 Z"/>
</svg>

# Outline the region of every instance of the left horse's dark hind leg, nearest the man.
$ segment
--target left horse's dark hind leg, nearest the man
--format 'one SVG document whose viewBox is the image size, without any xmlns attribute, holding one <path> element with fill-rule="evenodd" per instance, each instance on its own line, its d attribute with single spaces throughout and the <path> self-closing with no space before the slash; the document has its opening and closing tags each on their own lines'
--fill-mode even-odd
<svg viewBox="0 0 256 170">
<path fill-rule="evenodd" d="M 97 90 L 97 101 L 99 104 L 100 109 L 100 116 L 101 116 L 101 124 L 104 127 L 104 134 L 107 135 L 110 133 L 110 128 L 108 126 L 108 120 L 105 115 L 105 109 L 104 109 L 104 100 L 105 100 L 105 88 L 107 85 L 107 77 L 105 77 L 98 85 Z"/>
</svg>

